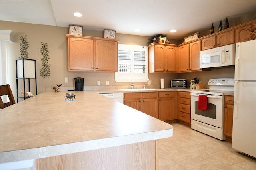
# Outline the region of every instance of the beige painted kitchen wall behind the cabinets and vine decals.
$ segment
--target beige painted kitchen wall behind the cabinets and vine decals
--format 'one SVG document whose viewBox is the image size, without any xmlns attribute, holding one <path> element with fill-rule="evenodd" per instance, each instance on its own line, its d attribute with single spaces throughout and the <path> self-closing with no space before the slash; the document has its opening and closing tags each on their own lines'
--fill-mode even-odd
<svg viewBox="0 0 256 170">
<path fill-rule="evenodd" d="M 242 22 L 247 22 L 255 18 L 254 14 L 250 14 L 246 19 L 238 18 L 236 23 L 230 20 L 231 25 L 241 24 Z M 210 27 L 210 26 L 209 26 Z M 7 22 L 0 21 L 1 30 L 12 30 L 15 34 L 14 43 L 8 42 L 8 61 L 10 67 L 9 74 L 10 82 L 12 84 L 12 91 L 16 95 L 16 75 L 15 75 L 15 59 L 20 57 L 20 36 L 27 35 L 27 40 L 29 43 L 28 47 L 28 57 L 29 59 L 36 59 L 37 65 L 37 84 L 38 84 L 38 94 L 45 91 L 45 87 L 54 87 L 56 84 L 62 84 L 62 86 L 73 86 L 74 77 L 83 77 L 85 79 L 84 86 L 97 86 L 97 81 L 101 81 L 101 85 L 106 85 L 106 80 L 109 81 L 110 86 L 114 85 L 130 85 L 130 83 L 116 83 L 114 81 L 114 73 L 80 73 L 80 72 L 69 72 L 68 71 L 68 49 L 67 40 L 65 34 L 68 34 L 68 28 L 57 27 L 57 26 L 47 26 L 39 24 L 27 24 L 19 22 Z M 207 34 L 208 30 L 202 31 L 202 34 Z M 200 32 L 200 37 L 202 36 Z M 103 32 L 83 30 L 84 36 L 95 36 L 103 37 Z M 130 45 L 147 45 L 148 39 L 150 37 L 146 36 L 135 36 L 128 34 L 116 34 L 116 38 L 120 41 L 120 44 L 130 44 Z M 173 44 L 180 44 L 183 40 L 172 40 L 168 37 L 168 40 Z M 50 55 L 49 63 L 50 66 L 50 77 L 43 78 L 40 76 L 41 69 L 41 59 L 42 55 L 40 53 L 41 42 L 48 44 L 48 51 Z M 69 83 L 64 82 L 64 78 L 69 78 Z M 208 72 L 202 73 L 149 73 L 149 78 L 152 85 L 159 85 L 160 78 L 165 79 L 165 87 L 170 87 L 171 79 L 193 79 L 198 77 L 203 83 L 207 84 L 207 81 L 211 78 L 217 77 L 234 77 L 234 68 L 227 69 L 214 69 Z M 143 85 L 144 83 L 135 83 L 135 85 Z M 147 83 L 145 83 L 147 85 Z"/>
</svg>

